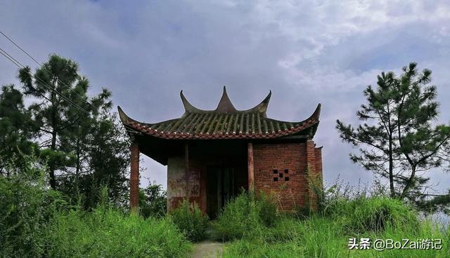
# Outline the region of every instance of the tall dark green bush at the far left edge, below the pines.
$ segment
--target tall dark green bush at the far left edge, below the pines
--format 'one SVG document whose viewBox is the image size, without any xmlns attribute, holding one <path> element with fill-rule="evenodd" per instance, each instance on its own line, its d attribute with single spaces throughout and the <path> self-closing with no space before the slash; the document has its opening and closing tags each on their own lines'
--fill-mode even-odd
<svg viewBox="0 0 450 258">
<path fill-rule="evenodd" d="M 41 257 L 46 228 L 65 205 L 46 187 L 45 168 L 37 159 L 24 156 L 23 161 L 20 168 L 9 163 L 8 176 L 0 176 L 0 257 Z"/>
</svg>

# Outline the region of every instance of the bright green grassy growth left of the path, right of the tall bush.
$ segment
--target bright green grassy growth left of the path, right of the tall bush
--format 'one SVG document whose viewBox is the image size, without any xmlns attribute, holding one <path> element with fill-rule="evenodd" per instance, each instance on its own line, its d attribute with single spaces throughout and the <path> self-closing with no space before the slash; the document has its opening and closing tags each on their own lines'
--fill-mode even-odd
<svg viewBox="0 0 450 258">
<path fill-rule="evenodd" d="M 59 212 L 48 257 L 186 257 L 191 244 L 167 218 L 143 219 L 113 208 Z"/>
</svg>

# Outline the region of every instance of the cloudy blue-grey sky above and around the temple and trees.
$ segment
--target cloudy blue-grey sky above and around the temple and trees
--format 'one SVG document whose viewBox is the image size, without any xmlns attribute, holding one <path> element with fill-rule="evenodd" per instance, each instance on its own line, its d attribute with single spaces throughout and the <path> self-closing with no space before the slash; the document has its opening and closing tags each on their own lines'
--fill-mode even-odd
<svg viewBox="0 0 450 258">
<path fill-rule="evenodd" d="M 267 114 L 302 121 L 322 104 L 314 137 L 323 146 L 326 184 L 371 184 L 349 161 L 335 121 L 357 124 L 362 91 L 382 71 L 409 62 L 432 70 L 441 103 L 437 123 L 450 123 L 449 1 L 6 1 L 0 29 L 37 60 L 57 53 L 79 63 L 91 94 L 138 121 L 177 118 L 180 90 L 214 109 L 222 87 L 238 109 L 272 91 Z M 32 60 L 4 38 L 0 46 L 23 64 Z M 17 67 L 0 59 L 0 84 L 17 83 Z M 115 109 L 117 110 L 117 109 Z M 141 185 L 167 186 L 167 168 L 144 156 Z M 430 173 L 437 191 L 450 175 Z"/>
</svg>

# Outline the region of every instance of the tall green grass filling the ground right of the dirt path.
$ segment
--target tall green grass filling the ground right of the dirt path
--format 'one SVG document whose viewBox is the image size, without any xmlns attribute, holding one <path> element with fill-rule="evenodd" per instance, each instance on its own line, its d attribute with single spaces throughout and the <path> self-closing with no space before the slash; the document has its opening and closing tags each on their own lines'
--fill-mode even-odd
<svg viewBox="0 0 450 258">
<path fill-rule="evenodd" d="M 231 207 L 240 217 L 236 205 L 231 203 Z M 226 219 L 233 222 L 229 216 Z M 226 243 L 224 257 L 450 257 L 448 229 L 439 231 L 437 224 L 418 219 L 413 208 L 390 198 L 341 199 L 328 203 L 326 212 L 304 219 L 275 216 L 272 226 L 254 223 L 250 216 L 252 226 L 245 233 L 228 229 L 226 233 L 234 237 Z M 221 217 L 217 224 L 221 224 L 219 231 L 226 228 Z M 349 250 L 349 238 L 440 238 L 442 250 Z"/>
</svg>

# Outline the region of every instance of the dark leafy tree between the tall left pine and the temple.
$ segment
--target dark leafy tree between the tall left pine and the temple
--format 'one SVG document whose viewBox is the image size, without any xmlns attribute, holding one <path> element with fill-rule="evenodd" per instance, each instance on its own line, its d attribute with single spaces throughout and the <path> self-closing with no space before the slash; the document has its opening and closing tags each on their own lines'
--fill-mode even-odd
<svg viewBox="0 0 450 258">
<path fill-rule="evenodd" d="M 128 190 L 129 139 L 117 117 L 104 110 L 91 124 L 86 144 L 86 169 L 71 177 L 79 194 L 84 196 L 84 208 L 95 208 L 102 187 L 107 187 L 111 201 L 122 205 Z M 74 184 L 66 185 L 68 189 Z"/>
</svg>

